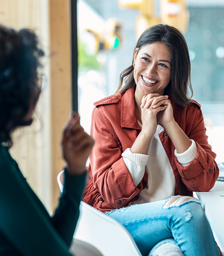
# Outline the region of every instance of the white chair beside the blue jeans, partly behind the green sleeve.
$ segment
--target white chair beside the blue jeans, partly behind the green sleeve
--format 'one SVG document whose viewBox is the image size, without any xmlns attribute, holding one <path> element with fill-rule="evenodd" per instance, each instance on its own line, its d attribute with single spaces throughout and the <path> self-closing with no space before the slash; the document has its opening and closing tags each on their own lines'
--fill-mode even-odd
<svg viewBox="0 0 224 256">
<path fill-rule="evenodd" d="M 58 184 L 63 191 L 64 171 L 58 174 Z M 93 245 L 104 256 L 141 256 L 128 230 L 116 220 L 81 201 L 80 217 L 74 239 Z"/>
</svg>

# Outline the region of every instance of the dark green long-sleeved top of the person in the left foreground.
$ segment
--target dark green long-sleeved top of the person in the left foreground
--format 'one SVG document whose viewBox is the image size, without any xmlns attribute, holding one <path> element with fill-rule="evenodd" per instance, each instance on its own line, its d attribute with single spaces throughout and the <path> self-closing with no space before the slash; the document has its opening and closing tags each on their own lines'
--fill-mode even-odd
<svg viewBox="0 0 224 256">
<path fill-rule="evenodd" d="M 0 144 L 0 255 L 70 256 L 85 176 L 65 172 L 64 190 L 51 217 Z"/>
</svg>

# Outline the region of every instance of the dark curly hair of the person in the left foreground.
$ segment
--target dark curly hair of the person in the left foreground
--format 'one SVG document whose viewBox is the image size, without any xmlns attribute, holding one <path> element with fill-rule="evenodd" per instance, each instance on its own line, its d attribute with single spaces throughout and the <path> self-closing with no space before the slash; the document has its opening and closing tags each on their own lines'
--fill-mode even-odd
<svg viewBox="0 0 224 256">
<path fill-rule="evenodd" d="M 12 146 L 11 132 L 23 121 L 38 88 L 39 57 L 44 55 L 35 33 L 0 25 L 0 139 Z"/>
</svg>

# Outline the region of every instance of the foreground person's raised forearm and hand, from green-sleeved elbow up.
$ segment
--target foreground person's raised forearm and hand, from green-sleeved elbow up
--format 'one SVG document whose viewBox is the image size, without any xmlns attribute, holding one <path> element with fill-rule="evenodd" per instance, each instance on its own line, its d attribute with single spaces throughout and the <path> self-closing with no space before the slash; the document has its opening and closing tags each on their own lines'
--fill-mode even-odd
<svg viewBox="0 0 224 256">
<path fill-rule="evenodd" d="M 52 220 L 64 241 L 70 245 L 79 218 L 79 204 L 86 176 L 86 161 L 94 140 L 80 125 L 80 117 L 74 112 L 65 126 L 62 137 L 62 153 L 67 167 L 64 172 L 64 188 L 60 204 Z"/>
</svg>

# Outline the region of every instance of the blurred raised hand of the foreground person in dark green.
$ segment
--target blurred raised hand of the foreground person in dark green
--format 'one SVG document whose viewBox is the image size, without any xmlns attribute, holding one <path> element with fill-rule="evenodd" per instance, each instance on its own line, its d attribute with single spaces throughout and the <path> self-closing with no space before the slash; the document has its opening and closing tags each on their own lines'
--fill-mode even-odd
<svg viewBox="0 0 224 256">
<path fill-rule="evenodd" d="M 80 125 L 80 117 L 77 112 L 72 114 L 64 128 L 61 145 L 63 157 L 67 162 L 67 172 L 70 174 L 84 173 L 94 140 Z"/>
</svg>

